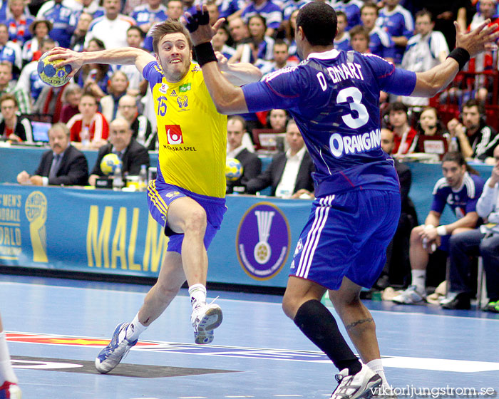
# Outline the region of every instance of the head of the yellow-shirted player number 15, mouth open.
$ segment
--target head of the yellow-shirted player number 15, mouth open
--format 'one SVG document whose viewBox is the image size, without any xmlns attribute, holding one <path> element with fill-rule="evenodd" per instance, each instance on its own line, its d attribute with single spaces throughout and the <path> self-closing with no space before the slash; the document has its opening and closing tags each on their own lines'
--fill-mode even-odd
<svg viewBox="0 0 499 399">
<path fill-rule="evenodd" d="M 156 56 L 165 72 L 167 81 L 180 81 L 190 65 L 190 48 L 183 33 L 168 33 L 161 38 Z"/>
</svg>

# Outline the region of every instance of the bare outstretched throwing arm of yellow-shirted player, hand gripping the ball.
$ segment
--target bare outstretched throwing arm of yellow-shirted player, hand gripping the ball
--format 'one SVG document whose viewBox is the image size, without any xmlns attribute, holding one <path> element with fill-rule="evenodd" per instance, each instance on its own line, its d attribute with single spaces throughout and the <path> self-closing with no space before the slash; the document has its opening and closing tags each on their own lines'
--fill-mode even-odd
<svg viewBox="0 0 499 399">
<path fill-rule="evenodd" d="M 135 64 L 138 71 L 142 73 L 143 68 L 148 65 L 150 61 L 155 61 L 155 58 L 147 51 L 133 47 L 111 48 L 102 51 L 85 51 L 83 53 L 77 53 L 68 48 L 56 47 L 48 52 L 49 61 L 60 59 L 63 61 L 59 65 L 64 66 L 70 64 L 73 68 L 73 71 L 71 71 L 69 75 L 71 78 L 75 76 L 81 66 L 87 63 L 107 63 L 113 65 Z"/>
</svg>

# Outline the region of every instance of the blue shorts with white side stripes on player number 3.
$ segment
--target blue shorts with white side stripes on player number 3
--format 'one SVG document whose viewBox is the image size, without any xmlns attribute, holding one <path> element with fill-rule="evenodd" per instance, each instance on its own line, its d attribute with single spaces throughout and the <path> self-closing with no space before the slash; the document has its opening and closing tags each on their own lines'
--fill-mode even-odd
<svg viewBox="0 0 499 399">
<path fill-rule="evenodd" d="M 383 270 L 400 210 L 400 193 L 387 190 L 355 190 L 315 199 L 289 276 L 334 290 L 346 276 L 370 288 Z"/>
</svg>

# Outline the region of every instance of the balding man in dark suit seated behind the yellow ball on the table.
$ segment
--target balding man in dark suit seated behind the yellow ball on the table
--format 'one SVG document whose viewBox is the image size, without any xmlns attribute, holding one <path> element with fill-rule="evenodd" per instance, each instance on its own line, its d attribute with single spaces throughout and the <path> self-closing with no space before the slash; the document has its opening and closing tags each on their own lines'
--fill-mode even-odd
<svg viewBox="0 0 499 399">
<path fill-rule="evenodd" d="M 95 186 L 98 177 L 103 177 L 101 160 L 106 154 L 116 154 L 123 162 L 121 172 L 138 175 L 141 165 L 149 167 L 148 150 L 132 138 L 130 125 L 123 118 L 113 120 L 109 125 L 109 143 L 99 148 L 96 165 L 94 165 L 88 184 Z"/>
</svg>

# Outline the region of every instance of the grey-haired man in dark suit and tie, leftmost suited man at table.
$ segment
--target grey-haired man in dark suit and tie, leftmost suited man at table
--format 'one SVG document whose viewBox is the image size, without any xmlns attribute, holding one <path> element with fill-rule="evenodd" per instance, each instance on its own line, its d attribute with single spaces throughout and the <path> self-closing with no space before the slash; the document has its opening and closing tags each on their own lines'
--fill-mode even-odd
<svg viewBox="0 0 499 399">
<path fill-rule="evenodd" d="M 63 123 L 56 123 L 48 130 L 51 150 L 43 152 L 40 165 L 29 175 L 23 170 L 17 175 L 21 185 L 86 185 L 88 162 L 83 152 L 69 142 L 69 129 Z"/>
</svg>

